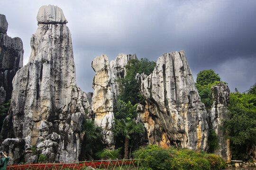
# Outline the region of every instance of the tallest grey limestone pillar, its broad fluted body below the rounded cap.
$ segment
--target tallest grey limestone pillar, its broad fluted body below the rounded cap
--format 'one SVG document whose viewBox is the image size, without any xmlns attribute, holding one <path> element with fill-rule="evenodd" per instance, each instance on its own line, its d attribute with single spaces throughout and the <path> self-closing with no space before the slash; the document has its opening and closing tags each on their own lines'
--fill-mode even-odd
<svg viewBox="0 0 256 170">
<path fill-rule="evenodd" d="M 52 8 L 57 7 L 45 10 Z M 24 150 L 29 153 L 35 145 L 49 161 L 78 161 L 82 122 L 85 113 L 90 112 L 89 102 L 76 84 L 70 31 L 65 24 L 52 24 L 47 17 L 48 23 L 38 21 L 31 37 L 29 62 L 13 79 L 11 106 L 1 134 L 4 139 L 24 139 L 17 155 Z M 25 161 L 34 159 L 24 157 Z M 13 155 L 13 162 L 18 161 Z"/>
</svg>

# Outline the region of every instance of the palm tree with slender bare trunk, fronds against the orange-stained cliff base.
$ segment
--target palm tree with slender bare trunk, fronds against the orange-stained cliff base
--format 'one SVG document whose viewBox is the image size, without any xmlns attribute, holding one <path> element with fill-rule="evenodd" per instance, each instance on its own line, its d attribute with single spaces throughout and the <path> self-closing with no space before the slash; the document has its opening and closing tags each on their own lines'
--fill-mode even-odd
<svg viewBox="0 0 256 170">
<path fill-rule="evenodd" d="M 115 135 L 121 135 L 125 137 L 124 159 L 127 159 L 129 139 L 131 139 L 132 134 L 143 132 L 143 126 L 141 124 L 137 124 L 134 119 L 128 120 L 128 122 L 126 122 L 124 119 L 121 119 L 116 120 L 115 129 L 113 130 L 113 132 L 115 133 Z"/>
</svg>

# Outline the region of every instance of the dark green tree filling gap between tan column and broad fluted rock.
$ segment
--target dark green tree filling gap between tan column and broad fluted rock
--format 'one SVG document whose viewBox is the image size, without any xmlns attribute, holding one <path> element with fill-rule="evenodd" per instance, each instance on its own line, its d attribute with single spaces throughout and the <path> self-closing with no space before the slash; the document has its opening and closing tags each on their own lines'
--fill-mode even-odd
<svg viewBox="0 0 256 170">
<path fill-rule="evenodd" d="M 141 60 L 131 59 L 128 61 L 126 68 L 126 76 L 117 80 L 119 84 L 119 99 L 128 103 L 131 102 L 135 105 L 138 102 L 144 101 L 143 97 L 139 93 L 139 86 L 135 79 L 136 74 L 145 73 L 149 75 L 155 68 L 155 61 L 149 61 L 144 58 Z"/>
</svg>

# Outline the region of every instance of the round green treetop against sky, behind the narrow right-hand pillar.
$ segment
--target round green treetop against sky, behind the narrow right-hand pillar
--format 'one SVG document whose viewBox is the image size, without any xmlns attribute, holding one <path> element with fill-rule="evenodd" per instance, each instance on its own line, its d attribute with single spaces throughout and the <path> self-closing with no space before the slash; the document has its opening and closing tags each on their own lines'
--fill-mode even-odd
<svg viewBox="0 0 256 170">
<path fill-rule="evenodd" d="M 200 71 L 197 74 L 196 84 L 197 85 L 209 85 L 215 81 L 220 81 L 219 74 L 216 74 L 212 69 Z"/>
</svg>

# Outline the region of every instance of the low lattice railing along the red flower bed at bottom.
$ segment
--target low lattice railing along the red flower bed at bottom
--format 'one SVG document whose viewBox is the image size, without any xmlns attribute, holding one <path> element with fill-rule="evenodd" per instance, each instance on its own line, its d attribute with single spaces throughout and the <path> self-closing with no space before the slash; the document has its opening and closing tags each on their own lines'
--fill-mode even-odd
<svg viewBox="0 0 256 170">
<path fill-rule="evenodd" d="M 97 170 L 139 170 L 149 168 L 147 160 L 100 160 L 73 163 L 31 163 L 7 166 L 7 170 L 85 170 L 92 167 Z"/>
</svg>

